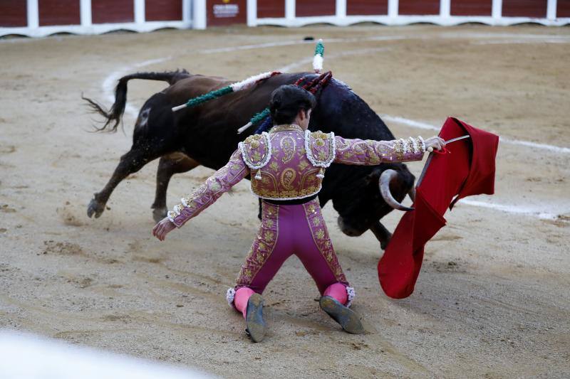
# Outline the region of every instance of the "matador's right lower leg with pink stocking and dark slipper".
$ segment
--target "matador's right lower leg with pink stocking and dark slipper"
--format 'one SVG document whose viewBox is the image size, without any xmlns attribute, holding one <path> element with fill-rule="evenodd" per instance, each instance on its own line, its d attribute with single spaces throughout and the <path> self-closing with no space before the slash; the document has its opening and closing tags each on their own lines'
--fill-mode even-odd
<svg viewBox="0 0 570 379">
<path fill-rule="evenodd" d="M 361 317 L 352 309 L 345 306 L 348 301 L 347 290 L 344 284 L 334 283 L 328 286 L 318 304 L 321 309 L 340 324 L 344 331 L 352 334 L 365 332 Z"/>
</svg>

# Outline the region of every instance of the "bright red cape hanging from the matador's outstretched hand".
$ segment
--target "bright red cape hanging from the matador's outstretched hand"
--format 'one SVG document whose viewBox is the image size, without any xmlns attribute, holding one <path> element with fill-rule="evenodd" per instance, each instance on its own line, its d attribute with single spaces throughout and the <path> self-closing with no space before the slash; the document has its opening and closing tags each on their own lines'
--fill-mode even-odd
<svg viewBox="0 0 570 379">
<path fill-rule="evenodd" d="M 378 279 L 385 294 L 395 299 L 410 296 L 422 267 L 425 243 L 442 228 L 447 207 L 465 196 L 494 193 L 495 156 L 499 137 L 452 117 L 440 137 L 469 139 L 446 146 L 447 154 L 431 154 L 418 180 L 415 210 L 403 216 L 378 262 Z M 454 199 L 455 197 L 455 199 Z"/>
</svg>

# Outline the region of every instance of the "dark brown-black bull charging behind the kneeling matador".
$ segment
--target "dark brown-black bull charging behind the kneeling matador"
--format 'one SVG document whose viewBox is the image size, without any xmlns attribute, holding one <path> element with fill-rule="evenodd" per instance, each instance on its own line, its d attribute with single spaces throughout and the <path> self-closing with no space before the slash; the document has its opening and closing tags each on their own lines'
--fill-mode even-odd
<svg viewBox="0 0 570 379">
<path fill-rule="evenodd" d="M 152 95 L 142 106 L 135 130 L 133 146 L 121 156 L 113 176 L 102 191 L 95 193 L 88 205 L 88 216 L 99 217 L 113 189 L 128 175 L 139 171 L 148 162 L 160 157 L 157 170 L 155 220 L 165 217 L 166 190 L 173 174 L 190 171 L 202 165 L 210 169 L 224 166 L 229 156 L 256 127 L 243 134 L 237 129 L 249 122 L 269 102 L 271 92 L 279 85 L 291 84 L 302 76 L 316 78 L 311 73 L 275 75 L 248 90 L 230 93 L 202 105 L 172 112 L 172 107 L 205 92 L 232 82 L 224 78 L 192 75 L 185 70 L 166 73 L 135 73 L 120 78 L 115 89 L 115 104 L 107 112 L 96 102 L 84 98 L 106 121 L 98 130 L 116 131 L 126 104 L 127 82 L 130 79 L 163 80 L 170 84 Z M 311 113 L 311 130 L 334 132 L 346 138 L 394 139 L 384 122 L 350 88 L 338 80 L 323 88 Z M 387 186 L 393 195 L 392 205 L 383 197 L 378 186 L 380 175 L 390 171 Z M 388 171 L 385 174 L 388 174 Z M 383 178 L 386 175 L 383 176 Z M 414 176 L 405 164 L 378 166 L 348 166 L 332 164 L 326 170 L 323 188 L 318 193 L 321 207 L 333 201 L 338 212 L 338 225 L 346 235 L 361 235 L 371 229 L 384 248 L 390 233 L 380 218 L 388 214 L 397 202 L 413 190 Z M 388 201 L 388 203 L 386 203 Z M 397 204 L 397 203 L 396 203 Z"/>
</svg>

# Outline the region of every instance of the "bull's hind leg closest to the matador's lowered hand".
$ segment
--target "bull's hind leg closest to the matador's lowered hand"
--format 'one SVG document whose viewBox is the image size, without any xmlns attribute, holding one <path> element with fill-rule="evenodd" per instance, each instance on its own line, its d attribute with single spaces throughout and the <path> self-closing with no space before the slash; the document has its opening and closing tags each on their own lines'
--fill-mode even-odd
<svg viewBox="0 0 570 379">
<path fill-rule="evenodd" d="M 167 154 L 160 158 L 156 172 L 155 202 L 150 206 L 150 208 L 152 208 L 152 218 L 154 218 L 156 222 L 166 217 L 168 211 L 166 206 L 166 193 L 172 175 L 190 171 L 197 166 L 199 166 L 197 161 L 179 152 Z"/>
</svg>

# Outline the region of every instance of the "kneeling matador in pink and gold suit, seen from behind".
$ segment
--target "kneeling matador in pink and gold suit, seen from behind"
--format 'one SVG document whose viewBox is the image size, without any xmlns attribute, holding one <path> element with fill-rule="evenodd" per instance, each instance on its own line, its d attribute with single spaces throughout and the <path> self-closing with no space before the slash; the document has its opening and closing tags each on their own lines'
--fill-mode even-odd
<svg viewBox="0 0 570 379">
<path fill-rule="evenodd" d="M 251 175 L 252 193 L 261 198 L 261 225 L 235 286 L 227 291 L 227 301 L 242 313 L 255 342 L 265 335 L 261 294 L 291 255 L 299 257 L 314 279 L 321 309 L 344 331 L 365 331 L 358 314 L 350 309 L 355 291 L 338 262 L 318 203 L 325 169 L 333 163 L 417 161 L 427 148 L 445 145 L 439 137 L 373 141 L 310 132 L 314 105 L 314 95 L 300 87 L 284 85 L 274 90 L 270 102 L 274 127 L 240 142 L 227 164 L 182 198 L 152 231 L 164 240 L 170 230 L 182 227 Z"/>
</svg>

